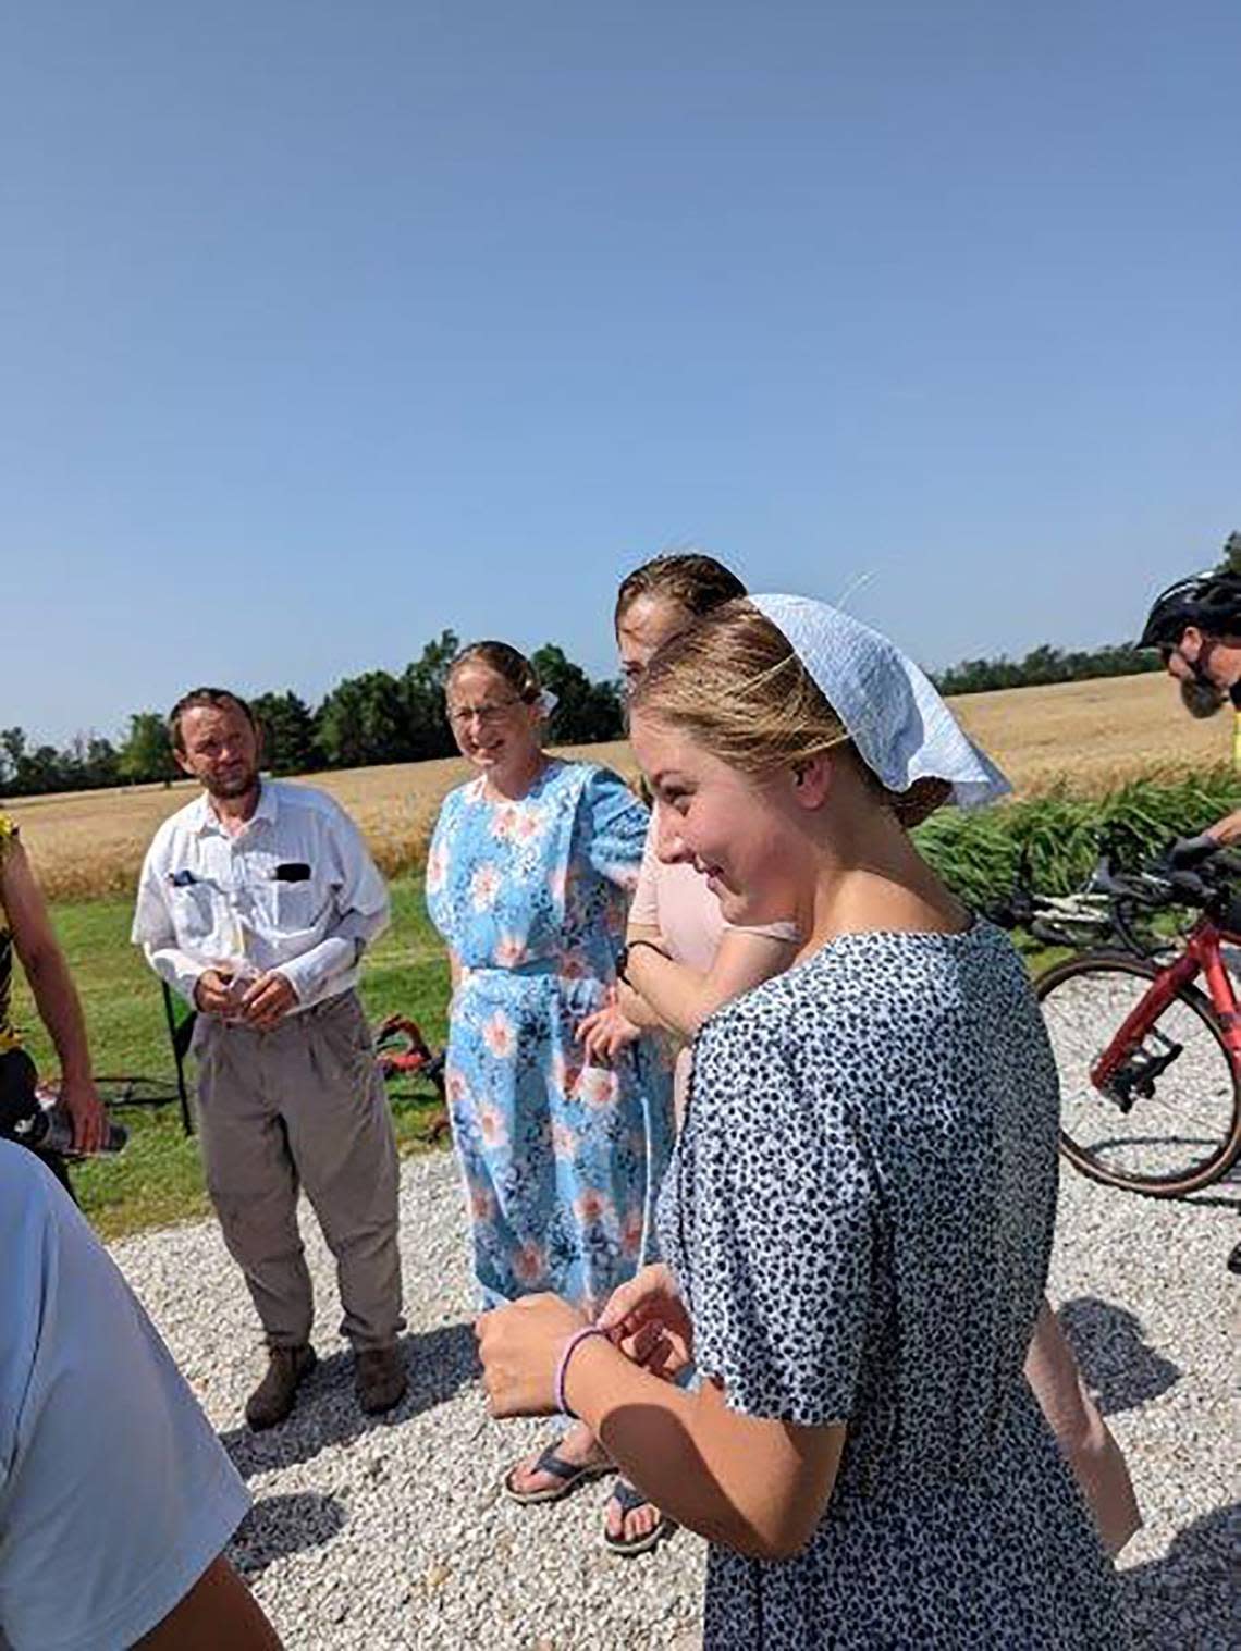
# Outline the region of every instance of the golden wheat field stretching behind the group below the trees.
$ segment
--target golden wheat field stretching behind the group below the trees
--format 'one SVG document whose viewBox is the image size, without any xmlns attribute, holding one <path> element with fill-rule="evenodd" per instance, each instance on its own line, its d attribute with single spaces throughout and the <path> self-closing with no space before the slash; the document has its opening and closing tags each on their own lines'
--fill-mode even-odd
<svg viewBox="0 0 1241 1651">
<path fill-rule="evenodd" d="M 1059 786 L 1097 794 L 1137 774 L 1185 774 L 1231 753 L 1231 717 L 1193 721 L 1162 674 L 970 693 L 952 705 L 1020 796 Z M 636 773 L 623 741 L 565 755 Z M 380 867 L 393 873 L 420 863 L 441 797 L 466 774 L 466 764 L 451 758 L 307 779 L 349 809 Z M 46 893 L 79 900 L 132 888 L 155 827 L 195 791 L 182 781 L 15 799 L 5 807 L 21 827 Z"/>
</svg>

